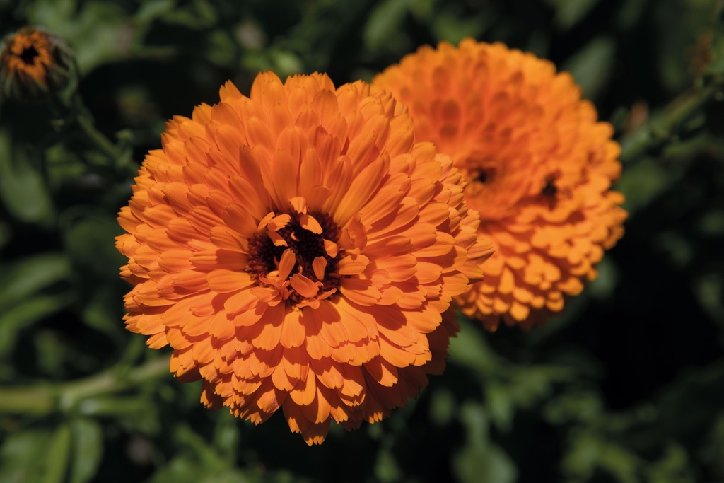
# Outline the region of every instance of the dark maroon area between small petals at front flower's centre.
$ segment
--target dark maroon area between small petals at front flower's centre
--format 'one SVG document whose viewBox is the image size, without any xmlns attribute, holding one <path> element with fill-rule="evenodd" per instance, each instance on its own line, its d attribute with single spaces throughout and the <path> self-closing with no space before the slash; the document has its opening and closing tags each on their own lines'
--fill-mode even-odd
<svg viewBox="0 0 724 483">
<path fill-rule="evenodd" d="M 340 286 L 340 278 L 331 276 L 330 274 L 337 272 L 337 261 L 342 258 L 342 253 L 337 253 L 332 257 L 324 249 L 324 240 L 337 243 L 340 238 L 340 229 L 337 224 L 321 213 L 310 213 L 321 226 L 321 234 L 317 235 L 309 230 L 304 229 L 298 219 L 298 214 L 287 213 L 292 220 L 287 226 L 277 231 L 277 235 L 282 237 L 287 243 L 286 246 L 274 245 L 274 241 L 264 233 L 262 235 L 254 235 L 249 240 L 249 261 L 247 272 L 266 277 L 266 274 L 276 270 L 279 265 L 279 259 L 282 254 L 291 250 L 296 256 L 296 263 L 292 274 L 300 273 L 313 282 L 321 282 L 320 292 L 332 290 Z M 320 280 L 314 273 L 312 263 L 317 257 L 323 257 L 327 260 L 327 268 L 324 270 L 324 277 Z"/>
</svg>

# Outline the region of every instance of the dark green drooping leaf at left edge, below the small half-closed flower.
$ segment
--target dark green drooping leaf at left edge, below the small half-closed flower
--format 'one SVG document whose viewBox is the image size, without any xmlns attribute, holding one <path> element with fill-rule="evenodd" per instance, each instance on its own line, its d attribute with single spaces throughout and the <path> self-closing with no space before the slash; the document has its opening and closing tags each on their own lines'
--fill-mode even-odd
<svg viewBox="0 0 724 483">
<path fill-rule="evenodd" d="M 43 177 L 30 163 L 28 153 L 12 146 L 4 130 L 0 131 L 0 200 L 21 222 L 46 221 L 53 211 Z"/>
</svg>

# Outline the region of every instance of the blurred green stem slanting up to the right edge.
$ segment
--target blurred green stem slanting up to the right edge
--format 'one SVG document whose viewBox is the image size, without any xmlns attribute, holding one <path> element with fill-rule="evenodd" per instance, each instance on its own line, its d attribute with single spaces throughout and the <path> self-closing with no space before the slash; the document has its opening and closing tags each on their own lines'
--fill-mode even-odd
<svg viewBox="0 0 724 483">
<path fill-rule="evenodd" d="M 623 139 L 620 155 L 623 164 L 631 163 L 644 154 L 670 143 L 675 135 L 680 133 L 681 126 L 710 102 L 720 91 L 720 87 L 712 84 L 683 94 L 676 98 L 660 117 L 652 117 L 647 125 L 641 127 L 631 137 Z"/>
</svg>

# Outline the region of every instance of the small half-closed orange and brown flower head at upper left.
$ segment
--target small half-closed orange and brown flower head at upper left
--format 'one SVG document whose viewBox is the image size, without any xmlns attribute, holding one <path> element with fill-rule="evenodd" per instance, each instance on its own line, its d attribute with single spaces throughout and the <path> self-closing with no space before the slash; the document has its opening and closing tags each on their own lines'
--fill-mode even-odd
<svg viewBox="0 0 724 483">
<path fill-rule="evenodd" d="M 64 87 L 75 62 L 59 38 L 28 26 L 8 35 L 0 51 L 0 98 L 39 98 Z"/>
</svg>

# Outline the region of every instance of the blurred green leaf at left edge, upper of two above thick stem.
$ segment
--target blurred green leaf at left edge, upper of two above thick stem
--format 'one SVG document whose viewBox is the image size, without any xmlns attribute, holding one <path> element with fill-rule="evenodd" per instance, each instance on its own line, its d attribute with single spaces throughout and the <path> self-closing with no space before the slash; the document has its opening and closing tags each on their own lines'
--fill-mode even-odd
<svg viewBox="0 0 724 483">
<path fill-rule="evenodd" d="M 28 256 L 0 271 L 0 308 L 24 298 L 70 275 L 70 263 L 61 253 Z"/>
</svg>

